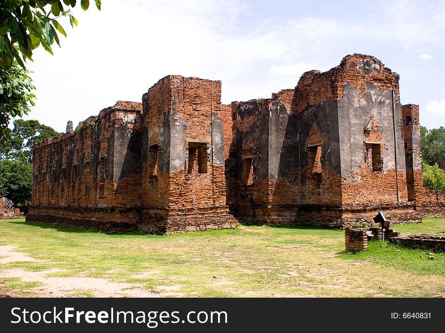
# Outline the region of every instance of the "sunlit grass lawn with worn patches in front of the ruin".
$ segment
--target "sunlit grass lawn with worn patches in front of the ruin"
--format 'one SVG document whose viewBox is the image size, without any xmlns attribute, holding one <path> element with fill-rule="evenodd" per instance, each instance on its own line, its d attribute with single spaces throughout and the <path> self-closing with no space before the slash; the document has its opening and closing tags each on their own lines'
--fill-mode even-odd
<svg viewBox="0 0 445 333">
<path fill-rule="evenodd" d="M 444 231 L 445 219 L 393 227 Z M 0 248 L 0 294 L 15 297 L 445 296 L 444 253 L 429 260 L 431 251 L 379 241 L 349 253 L 339 229 L 240 225 L 159 236 L 14 219 L 0 222 Z"/>
</svg>

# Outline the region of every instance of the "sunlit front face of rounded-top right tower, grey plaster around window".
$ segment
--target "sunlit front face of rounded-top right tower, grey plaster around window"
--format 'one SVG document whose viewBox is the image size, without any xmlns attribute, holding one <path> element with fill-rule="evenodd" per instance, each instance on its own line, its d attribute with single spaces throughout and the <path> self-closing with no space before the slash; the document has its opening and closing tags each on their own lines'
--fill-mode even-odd
<svg viewBox="0 0 445 333">
<path fill-rule="evenodd" d="M 343 58 L 336 72 L 343 205 L 407 202 L 398 74 L 359 55 Z"/>
</svg>

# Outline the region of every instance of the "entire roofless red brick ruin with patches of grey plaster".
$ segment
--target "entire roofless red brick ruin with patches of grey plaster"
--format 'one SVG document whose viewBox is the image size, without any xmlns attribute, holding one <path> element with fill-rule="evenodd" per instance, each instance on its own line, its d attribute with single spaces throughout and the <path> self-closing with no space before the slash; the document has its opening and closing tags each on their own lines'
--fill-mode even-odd
<svg viewBox="0 0 445 333">
<path fill-rule="evenodd" d="M 354 54 L 271 99 L 221 105 L 221 82 L 170 75 L 34 148 L 27 219 L 105 231 L 342 227 L 445 214 L 422 184 L 419 108 Z M 235 218 L 236 219 L 235 219 Z"/>
</svg>

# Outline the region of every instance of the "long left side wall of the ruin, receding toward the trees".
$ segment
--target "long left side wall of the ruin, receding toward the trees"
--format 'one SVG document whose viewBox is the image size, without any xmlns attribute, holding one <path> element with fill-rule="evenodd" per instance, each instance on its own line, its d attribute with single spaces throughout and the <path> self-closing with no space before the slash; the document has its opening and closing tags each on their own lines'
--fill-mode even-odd
<svg viewBox="0 0 445 333">
<path fill-rule="evenodd" d="M 87 220 L 82 212 L 88 211 L 99 224 L 130 223 L 110 209 L 137 207 L 141 200 L 141 111 L 140 103 L 119 101 L 81 122 L 73 133 L 37 144 L 27 218 L 54 222 L 53 216 L 77 225 Z"/>
</svg>

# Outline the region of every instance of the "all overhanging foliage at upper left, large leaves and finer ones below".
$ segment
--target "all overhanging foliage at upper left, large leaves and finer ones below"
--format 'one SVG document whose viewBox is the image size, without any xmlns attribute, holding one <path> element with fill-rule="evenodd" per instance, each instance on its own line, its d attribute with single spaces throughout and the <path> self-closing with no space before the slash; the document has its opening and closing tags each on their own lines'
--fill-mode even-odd
<svg viewBox="0 0 445 333">
<path fill-rule="evenodd" d="M 101 0 L 94 0 L 101 9 Z M 70 9 L 77 0 L 1 0 L 0 1 L 0 140 L 10 117 L 21 117 L 34 106 L 34 89 L 25 68 L 32 61 L 32 51 L 40 45 L 53 54 L 51 45 L 60 46 L 59 35 L 66 37 L 61 18 L 69 19 L 72 27 L 77 20 Z M 86 11 L 90 0 L 80 0 Z M 20 68 L 21 66 L 22 68 Z"/>
</svg>

